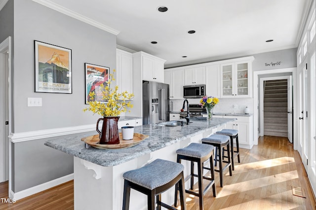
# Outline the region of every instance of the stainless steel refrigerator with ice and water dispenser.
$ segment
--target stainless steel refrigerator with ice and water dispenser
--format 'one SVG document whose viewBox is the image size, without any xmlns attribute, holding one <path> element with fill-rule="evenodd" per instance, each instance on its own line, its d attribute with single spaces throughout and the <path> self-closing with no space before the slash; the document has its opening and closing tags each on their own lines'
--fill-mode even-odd
<svg viewBox="0 0 316 210">
<path fill-rule="evenodd" d="M 143 81 L 143 125 L 169 121 L 169 85 Z"/>
</svg>

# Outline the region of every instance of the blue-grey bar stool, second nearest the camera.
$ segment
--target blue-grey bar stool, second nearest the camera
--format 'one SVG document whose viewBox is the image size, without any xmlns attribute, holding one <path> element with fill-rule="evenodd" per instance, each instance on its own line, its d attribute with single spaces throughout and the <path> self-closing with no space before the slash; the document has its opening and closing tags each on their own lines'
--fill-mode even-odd
<svg viewBox="0 0 316 210">
<path fill-rule="evenodd" d="M 199 198 L 199 209 L 203 210 L 203 195 L 209 186 L 213 187 L 213 196 L 216 197 L 216 188 L 215 188 L 215 180 L 214 180 L 214 166 L 213 166 L 213 149 L 214 146 L 208 144 L 201 143 L 191 143 L 187 147 L 178 149 L 177 153 L 177 163 L 181 163 L 181 160 L 191 161 L 191 174 L 187 179 L 191 179 L 190 181 L 190 189 L 193 190 L 194 177 L 198 177 L 198 193 L 185 190 L 186 193 L 191 195 L 195 195 Z M 206 168 L 203 166 L 203 163 L 208 160 L 210 161 L 210 168 Z M 197 163 L 197 175 L 194 174 L 194 163 Z M 211 173 L 211 178 L 203 176 L 203 169 L 207 169 Z M 207 179 L 210 182 L 207 184 L 205 189 L 203 190 L 203 179 Z M 176 184 L 175 189 L 175 198 L 174 198 L 174 206 L 177 207 L 177 197 L 178 197 L 178 188 Z"/>
</svg>

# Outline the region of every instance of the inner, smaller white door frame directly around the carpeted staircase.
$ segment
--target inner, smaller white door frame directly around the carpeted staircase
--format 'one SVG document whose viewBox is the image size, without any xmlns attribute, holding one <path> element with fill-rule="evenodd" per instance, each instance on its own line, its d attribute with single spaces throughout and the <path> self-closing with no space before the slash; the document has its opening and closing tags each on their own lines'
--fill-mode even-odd
<svg viewBox="0 0 316 210">
<path fill-rule="evenodd" d="M 264 113 L 263 113 L 263 108 L 264 108 L 264 88 L 263 88 L 263 82 L 267 81 L 267 80 L 279 80 L 279 79 L 286 79 L 287 81 L 290 81 L 292 85 L 292 76 L 293 75 L 287 75 L 287 76 L 272 76 L 272 77 L 262 77 L 260 78 L 260 85 L 259 85 L 259 97 L 260 97 L 260 131 L 259 131 L 259 135 L 262 137 L 264 135 Z M 293 88 L 292 88 L 292 92 L 293 92 Z M 292 93 L 290 93 L 292 94 Z M 289 98 L 291 96 L 289 96 L 289 93 L 287 93 L 287 98 Z M 291 97 L 292 98 L 292 97 Z M 293 109 L 293 104 L 291 107 L 291 110 Z M 293 115 L 292 115 L 293 116 Z M 292 128 L 293 128 L 293 119 L 292 119 Z M 292 131 L 293 132 L 293 131 Z M 292 133 L 293 135 L 293 133 Z M 292 142 L 293 143 L 293 138 L 292 138 Z"/>
</svg>

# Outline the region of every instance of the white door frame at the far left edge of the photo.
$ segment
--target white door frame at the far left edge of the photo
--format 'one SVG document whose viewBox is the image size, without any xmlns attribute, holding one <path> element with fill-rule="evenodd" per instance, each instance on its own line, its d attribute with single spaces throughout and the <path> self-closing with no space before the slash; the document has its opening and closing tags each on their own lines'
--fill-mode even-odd
<svg viewBox="0 0 316 210">
<path fill-rule="evenodd" d="M 11 125 L 12 125 L 12 99 L 11 99 L 11 61 L 12 61 L 12 42 L 11 42 L 12 38 L 11 36 L 8 36 L 4 41 L 2 41 L 0 43 L 0 54 L 7 54 L 7 57 L 8 57 L 8 78 L 4 78 L 4 79 L 8 79 L 8 120 L 9 120 L 9 124 L 8 124 L 8 130 L 9 130 L 9 135 L 11 135 L 12 133 L 12 128 L 11 128 Z M 2 56 L 1 55 L 1 56 Z M 4 64 L 0 63 L 0 66 L 4 66 Z M 12 188 L 12 169 L 11 169 L 11 166 L 12 166 L 12 159 L 11 159 L 11 142 L 9 141 L 9 139 L 7 138 L 7 141 L 8 141 L 8 151 L 7 151 L 7 154 L 8 154 L 8 179 L 9 179 L 9 189 L 8 189 L 8 195 L 10 194 L 9 192 L 11 191 L 11 188 Z M 0 161 L 0 164 L 2 164 L 2 160 Z"/>
</svg>

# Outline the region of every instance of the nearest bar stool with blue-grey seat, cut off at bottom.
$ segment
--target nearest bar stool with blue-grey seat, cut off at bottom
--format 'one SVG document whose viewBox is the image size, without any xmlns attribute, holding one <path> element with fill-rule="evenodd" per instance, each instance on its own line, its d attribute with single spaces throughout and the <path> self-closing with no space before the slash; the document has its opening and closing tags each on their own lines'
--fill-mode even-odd
<svg viewBox="0 0 316 210">
<path fill-rule="evenodd" d="M 175 210 L 161 202 L 161 193 L 175 184 L 179 186 L 180 190 L 181 210 L 186 210 L 183 169 L 182 164 L 156 159 L 142 168 L 125 172 L 123 174 L 123 210 L 129 209 L 131 188 L 147 195 L 148 210 L 155 210 L 155 196 L 157 210 L 160 210 L 161 207 Z"/>
</svg>

